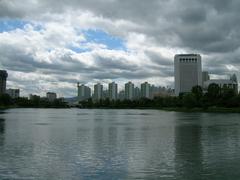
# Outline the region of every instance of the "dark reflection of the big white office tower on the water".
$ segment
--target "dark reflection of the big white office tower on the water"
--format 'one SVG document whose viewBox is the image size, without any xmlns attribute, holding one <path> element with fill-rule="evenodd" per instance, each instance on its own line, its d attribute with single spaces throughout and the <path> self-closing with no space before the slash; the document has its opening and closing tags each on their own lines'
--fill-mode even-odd
<svg viewBox="0 0 240 180">
<path fill-rule="evenodd" d="M 179 118 L 179 119 L 178 119 Z M 179 113 L 175 127 L 175 164 L 177 177 L 198 179 L 203 176 L 201 114 L 187 117 Z M 194 122 L 192 122 L 194 121 Z"/>
</svg>

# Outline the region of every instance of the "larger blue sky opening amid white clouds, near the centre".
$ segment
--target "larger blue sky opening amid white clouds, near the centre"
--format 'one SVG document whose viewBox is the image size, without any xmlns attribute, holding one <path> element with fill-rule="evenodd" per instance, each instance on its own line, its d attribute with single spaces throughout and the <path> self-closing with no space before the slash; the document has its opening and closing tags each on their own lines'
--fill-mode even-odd
<svg viewBox="0 0 240 180">
<path fill-rule="evenodd" d="M 89 29 L 83 31 L 83 34 L 86 38 L 86 42 L 104 44 L 108 49 L 111 50 L 124 50 L 124 51 L 127 50 L 123 39 L 116 36 L 112 36 L 102 30 Z"/>
</svg>

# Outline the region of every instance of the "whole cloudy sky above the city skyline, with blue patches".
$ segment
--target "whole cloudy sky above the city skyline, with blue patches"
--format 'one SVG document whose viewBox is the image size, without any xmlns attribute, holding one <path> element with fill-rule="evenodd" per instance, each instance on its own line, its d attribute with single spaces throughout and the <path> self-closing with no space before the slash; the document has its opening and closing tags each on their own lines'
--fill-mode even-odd
<svg viewBox="0 0 240 180">
<path fill-rule="evenodd" d="M 132 81 L 174 87 L 173 58 L 240 78 L 239 0 L 0 0 L 0 69 L 21 94 Z"/>
</svg>

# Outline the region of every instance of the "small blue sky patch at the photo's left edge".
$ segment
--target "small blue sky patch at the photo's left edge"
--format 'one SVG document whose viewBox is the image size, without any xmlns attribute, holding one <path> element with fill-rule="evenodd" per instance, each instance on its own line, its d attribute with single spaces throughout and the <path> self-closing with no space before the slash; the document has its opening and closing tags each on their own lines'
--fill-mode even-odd
<svg viewBox="0 0 240 180">
<path fill-rule="evenodd" d="M 15 29 L 24 29 L 24 26 L 30 24 L 28 21 L 16 19 L 2 19 L 0 20 L 0 32 L 9 32 Z"/>
</svg>

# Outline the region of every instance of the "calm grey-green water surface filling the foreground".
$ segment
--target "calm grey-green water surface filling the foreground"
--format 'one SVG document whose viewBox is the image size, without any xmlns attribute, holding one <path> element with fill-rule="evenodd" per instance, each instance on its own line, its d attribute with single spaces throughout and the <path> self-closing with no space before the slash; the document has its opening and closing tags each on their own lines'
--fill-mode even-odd
<svg viewBox="0 0 240 180">
<path fill-rule="evenodd" d="M 0 179 L 240 179 L 240 114 L 0 111 Z"/>
</svg>

